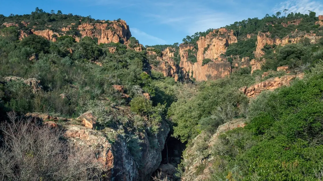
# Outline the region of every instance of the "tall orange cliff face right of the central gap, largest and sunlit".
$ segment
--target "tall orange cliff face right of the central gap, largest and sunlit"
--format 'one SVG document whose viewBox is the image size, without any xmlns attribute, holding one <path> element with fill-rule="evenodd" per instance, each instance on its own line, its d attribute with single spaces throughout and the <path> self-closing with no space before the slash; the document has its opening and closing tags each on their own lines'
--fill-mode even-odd
<svg viewBox="0 0 323 181">
<path fill-rule="evenodd" d="M 222 60 L 220 55 L 226 51 L 229 44 L 235 42 L 237 42 L 237 38 L 233 31 L 225 28 L 214 30 L 205 38 L 200 37 L 197 41 L 198 51 L 196 53 L 197 62 L 195 63 L 188 61 L 187 50 L 194 51 L 193 45 L 181 44 L 179 51 L 181 56 L 180 67 L 196 81 L 215 80 L 228 76 L 231 74 L 231 64 Z M 212 62 L 202 66 L 203 60 L 207 58 L 211 59 Z"/>
</svg>

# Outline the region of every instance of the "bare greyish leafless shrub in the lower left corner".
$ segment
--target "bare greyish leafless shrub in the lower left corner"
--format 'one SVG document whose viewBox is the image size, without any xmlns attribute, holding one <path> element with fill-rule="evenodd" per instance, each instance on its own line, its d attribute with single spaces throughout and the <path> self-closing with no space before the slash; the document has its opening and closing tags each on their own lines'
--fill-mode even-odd
<svg viewBox="0 0 323 181">
<path fill-rule="evenodd" d="M 32 119 L 1 124 L 0 180 L 102 180 L 102 165 L 89 147 L 73 146 L 59 129 L 41 126 Z"/>
</svg>

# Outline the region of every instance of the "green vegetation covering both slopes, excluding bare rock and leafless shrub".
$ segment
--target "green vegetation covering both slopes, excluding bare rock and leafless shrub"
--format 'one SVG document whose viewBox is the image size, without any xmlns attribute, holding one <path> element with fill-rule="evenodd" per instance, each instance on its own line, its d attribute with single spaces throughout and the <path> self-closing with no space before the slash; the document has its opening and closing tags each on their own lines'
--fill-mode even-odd
<svg viewBox="0 0 323 181">
<path fill-rule="evenodd" d="M 253 18 L 226 26 L 234 30 L 238 42 L 232 43 L 224 56 L 254 58 L 255 35 L 258 31 L 269 32 L 273 38 L 282 38 L 296 28 L 299 31 L 321 33 L 318 31 L 322 27 L 314 24 L 317 21 L 314 12 L 309 15 L 290 13 L 287 17 L 279 16 L 277 12 L 276 15 L 266 15 L 263 19 Z M 300 23 L 283 26 L 288 21 L 295 20 Z M 19 23 L 21 21 L 30 24 L 25 27 Z M 36 8 L 35 12 L 27 15 L 0 15 L 0 24 L 4 22 L 16 22 L 18 26 L 0 27 L 0 121 L 5 122 L 1 127 L 5 132 L 3 135 L 14 134 L 20 141 L 30 145 L 32 140 L 28 139 L 28 132 L 20 135 L 17 130 L 10 129 L 11 126 L 19 126 L 35 130 L 36 137 L 42 138 L 37 125 L 26 125 L 24 121 L 17 125 L 7 123 L 5 120 L 15 123 L 17 119 L 12 112 L 6 116 L 10 111 L 15 111 L 19 116 L 27 112 L 43 112 L 53 116 L 76 118 L 92 110 L 98 117 L 99 126 L 112 128 L 127 139 L 129 151 L 135 161 L 138 161 L 141 145 L 136 135 L 143 132 L 148 136 L 156 135 L 161 121 L 167 119 L 172 125 L 172 136 L 187 142 L 188 146 L 192 146 L 193 138 L 200 133 L 209 135 L 201 143 L 197 143 L 197 147 L 203 153 L 211 149 L 211 155 L 215 158 L 211 180 L 322 179 L 323 38 L 316 44 L 311 44 L 305 38 L 300 43 L 286 46 L 266 45 L 263 49 L 266 63 L 262 70 L 257 70 L 252 75 L 251 68 L 245 67 L 234 71 L 230 77 L 216 81 L 194 82 L 192 78 L 191 81 L 175 82 L 173 78 L 163 77 L 161 72 L 149 71 L 149 64 L 159 63 L 156 62 L 156 56 L 147 56 L 146 51 L 135 52 L 127 49 L 122 43 L 98 45 L 97 39 L 90 37 L 84 37 L 77 43 L 71 36 L 61 36 L 56 42 L 50 42 L 36 35 L 29 35 L 18 41 L 17 32 L 20 29 L 28 30 L 37 26 L 36 30 L 41 30 L 50 25 L 49 29 L 59 31 L 62 24 L 99 22 L 90 16 L 66 15 L 60 11 L 46 13 Z M 197 50 L 198 38 L 212 31 L 214 29 L 187 36 L 183 43 L 193 44 Z M 77 30 L 72 29 L 71 32 L 78 34 Z M 247 34 L 254 36 L 246 39 Z M 128 46 L 134 48 L 138 43 L 138 40 L 131 37 Z M 116 47 L 115 53 L 109 52 L 108 47 L 111 46 Z M 155 48 L 152 51 L 157 56 L 161 56 L 161 52 L 167 47 L 175 48 L 173 59 L 179 64 L 178 46 L 175 43 L 146 47 Z M 196 51 L 188 50 L 187 53 L 189 61 L 197 61 Z M 205 59 L 202 65 L 211 61 Z M 232 62 L 232 58 L 228 58 L 228 61 Z M 291 87 L 261 93 L 257 99 L 251 101 L 239 91 L 243 86 L 285 75 L 286 72 L 276 71 L 278 66 L 283 65 L 288 65 L 291 74 L 306 72 L 305 79 L 295 81 Z M 265 71 L 270 73 L 262 77 Z M 35 78 L 40 81 L 43 89 L 35 93 L 23 81 L 6 81 L 7 76 Z M 129 98 L 125 98 L 112 85 L 124 85 L 124 93 Z M 143 93 L 149 93 L 151 99 L 145 98 Z M 116 114 L 113 109 L 118 107 L 123 110 L 128 106 L 136 116 Z M 208 148 L 206 142 L 218 126 L 235 119 L 245 120 L 247 126 L 220 135 L 214 148 Z M 99 179 L 100 168 L 96 165 L 89 165 L 89 169 L 93 171 L 90 176 L 84 175 L 86 172 L 78 172 L 88 164 L 87 160 L 79 163 L 78 167 L 69 167 L 69 162 L 74 161 L 75 155 L 79 153 L 68 142 L 58 139 L 62 136 L 60 132 L 45 130 L 45 133 L 57 138 L 54 141 L 48 137 L 45 139 L 47 142 L 56 143 L 50 148 L 65 155 L 64 158 L 54 160 L 51 165 L 63 166 L 51 169 L 51 165 L 46 164 L 45 171 L 42 171 L 32 165 L 30 172 L 34 173 L 33 177 L 38 179 L 44 177 L 45 173 L 58 172 L 61 173 L 58 180 Z M 33 153 L 41 155 L 45 148 L 37 147 L 30 153 L 27 150 L 29 147 L 17 147 L 8 138 L 5 137 L 3 141 L 6 144 L 0 149 L 0 179 L 26 178 L 26 174 L 17 169 L 19 162 L 24 160 L 17 159 L 15 154 L 23 152 L 22 154 L 35 158 L 37 162 L 43 162 L 41 157 L 33 157 Z M 150 146 L 153 148 L 155 145 Z M 15 152 L 16 148 L 19 150 Z M 66 155 L 71 151 L 73 154 Z M 203 156 L 210 157 L 209 153 Z M 54 158 L 56 156 L 53 155 Z M 23 166 L 29 166 L 24 164 Z M 204 168 L 205 165 L 201 164 L 195 174 L 202 174 Z M 21 176 L 2 172 L 4 169 L 16 170 Z M 65 175 L 63 171 L 66 171 Z M 70 178 L 71 175 L 74 176 L 73 179 Z M 57 179 L 53 174 L 47 178 Z"/>
</svg>

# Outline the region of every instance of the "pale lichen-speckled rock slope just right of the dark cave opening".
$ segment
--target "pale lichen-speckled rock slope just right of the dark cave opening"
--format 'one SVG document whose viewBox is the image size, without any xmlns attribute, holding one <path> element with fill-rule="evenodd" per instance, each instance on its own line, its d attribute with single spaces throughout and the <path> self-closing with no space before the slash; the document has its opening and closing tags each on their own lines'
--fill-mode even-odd
<svg viewBox="0 0 323 181">
<path fill-rule="evenodd" d="M 208 180 L 209 176 L 212 174 L 211 169 L 213 161 L 217 157 L 213 156 L 211 148 L 214 147 L 214 145 L 217 143 L 219 135 L 228 130 L 243 128 L 245 127 L 245 125 L 246 124 L 244 119 L 234 119 L 219 126 L 216 129 L 215 134 L 212 135 L 211 138 L 205 143 L 205 146 L 207 147 L 205 154 L 199 153 L 199 147 L 204 138 L 208 136 L 207 133 L 202 132 L 200 135 L 194 138 L 192 146 L 188 147 L 184 152 L 183 157 L 187 166 L 185 167 L 185 173 L 184 176 L 182 176 L 182 181 Z M 209 156 L 205 157 L 205 155 Z M 199 173 L 199 175 L 197 175 L 197 167 L 202 164 L 205 166 L 203 173 Z"/>
</svg>

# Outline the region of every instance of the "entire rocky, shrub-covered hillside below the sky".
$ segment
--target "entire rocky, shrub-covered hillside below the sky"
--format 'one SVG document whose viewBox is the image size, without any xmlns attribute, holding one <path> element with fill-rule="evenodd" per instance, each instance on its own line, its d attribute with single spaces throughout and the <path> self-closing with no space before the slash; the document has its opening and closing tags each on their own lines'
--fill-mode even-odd
<svg viewBox="0 0 323 181">
<path fill-rule="evenodd" d="M 0 25 L 0 180 L 322 179 L 322 15 L 146 47 L 120 19 Z"/>
</svg>

